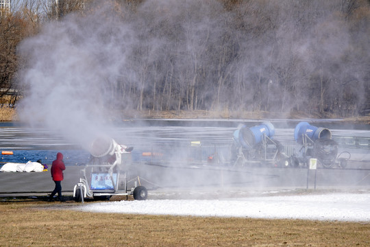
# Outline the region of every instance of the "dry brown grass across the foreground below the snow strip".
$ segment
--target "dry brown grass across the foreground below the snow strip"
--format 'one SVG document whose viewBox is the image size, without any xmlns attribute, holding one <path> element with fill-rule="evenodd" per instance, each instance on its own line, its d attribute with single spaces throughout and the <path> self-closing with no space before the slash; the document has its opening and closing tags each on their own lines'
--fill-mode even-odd
<svg viewBox="0 0 370 247">
<path fill-rule="evenodd" d="M 3 200 L 0 246 L 370 246 L 365 223 L 71 210 L 77 205 Z"/>
</svg>

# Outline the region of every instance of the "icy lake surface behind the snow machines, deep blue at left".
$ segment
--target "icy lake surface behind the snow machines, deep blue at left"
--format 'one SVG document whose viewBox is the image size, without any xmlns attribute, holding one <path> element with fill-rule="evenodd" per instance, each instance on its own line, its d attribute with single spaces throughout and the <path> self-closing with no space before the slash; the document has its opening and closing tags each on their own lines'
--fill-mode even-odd
<svg viewBox="0 0 370 247">
<path fill-rule="evenodd" d="M 158 151 L 169 148 L 188 148 L 192 142 L 201 143 L 204 147 L 218 147 L 226 149 L 232 144 L 232 133 L 240 122 L 210 121 L 205 124 L 189 124 L 190 121 L 148 121 L 143 126 L 138 124 L 121 124 L 114 128 L 112 138 L 118 143 L 133 146 L 133 158 L 139 159 L 143 152 Z M 260 123 L 260 122 L 259 122 Z M 258 122 L 245 123 L 254 126 Z M 275 127 L 275 139 L 284 144 L 295 143 L 293 133 L 294 124 L 273 123 Z M 314 123 L 315 125 L 315 123 Z M 325 126 L 325 124 L 316 124 Z M 332 124 L 331 124 L 331 127 Z M 370 130 L 353 130 L 331 128 L 333 139 L 338 137 L 370 137 Z M 365 126 L 366 127 L 366 126 Z M 64 139 L 60 134 L 43 128 L 27 128 L 18 124 L 0 125 L 0 150 L 12 151 L 13 155 L 1 154 L 0 165 L 5 162 L 25 163 L 27 161 L 42 160 L 42 163 L 51 163 L 57 152 L 64 154 L 66 165 L 82 165 L 87 163 L 90 154 L 82 150 L 78 143 Z M 366 144 L 366 143 L 365 143 Z M 351 152 L 360 153 L 362 156 L 369 155 L 369 147 Z M 366 158 L 366 157 L 365 157 Z"/>
</svg>

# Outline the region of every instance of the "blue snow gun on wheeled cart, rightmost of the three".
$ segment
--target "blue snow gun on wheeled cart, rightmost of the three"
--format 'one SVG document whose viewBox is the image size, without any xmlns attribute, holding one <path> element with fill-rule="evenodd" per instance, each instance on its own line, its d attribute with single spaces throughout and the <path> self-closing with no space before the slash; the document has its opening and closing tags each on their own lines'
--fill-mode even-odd
<svg viewBox="0 0 370 247">
<path fill-rule="evenodd" d="M 348 154 L 347 158 L 340 158 L 341 154 L 337 156 L 338 143 L 332 139 L 332 132 L 304 121 L 295 126 L 294 139 L 301 145 L 301 149 L 288 159 L 288 165 L 292 167 L 298 167 L 300 164 L 307 166 L 310 158 L 316 158 L 317 163 L 325 168 L 334 165 L 344 168 L 351 156 L 349 152 L 341 153 Z"/>
</svg>

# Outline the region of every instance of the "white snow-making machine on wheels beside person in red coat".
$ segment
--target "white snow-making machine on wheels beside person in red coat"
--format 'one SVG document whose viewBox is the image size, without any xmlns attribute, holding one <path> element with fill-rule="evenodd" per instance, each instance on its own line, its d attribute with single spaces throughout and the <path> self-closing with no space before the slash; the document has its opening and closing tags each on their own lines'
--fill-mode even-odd
<svg viewBox="0 0 370 247">
<path fill-rule="evenodd" d="M 132 148 L 120 145 L 110 137 L 99 137 L 90 145 L 90 161 L 81 170 L 79 183 L 73 189 L 73 198 L 109 200 L 111 196 L 134 196 L 135 200 L 147 199 L 147 189 L 140 185 L 140 178 L 127 181 L 131 165 Z M 128 182 L 133 184 L 128 188 Z M 139 185 L 139 186 L 138 186 Z"/>
</svg>

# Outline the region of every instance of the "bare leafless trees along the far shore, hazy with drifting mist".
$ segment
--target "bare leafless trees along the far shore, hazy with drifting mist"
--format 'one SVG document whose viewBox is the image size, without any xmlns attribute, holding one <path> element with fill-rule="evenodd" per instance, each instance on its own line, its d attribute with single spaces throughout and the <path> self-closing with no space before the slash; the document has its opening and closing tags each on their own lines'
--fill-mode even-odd
<svg viewBox="0 0 370 247">
<path fill-rule="evenodd" d="M 25 0 L 2 14 L 0 97 L 29 90 L 19 83 L 29 61 L 18 44 L 73 19 L 66 35 L 76 44 L 99 39 L 92 52 L 101 69 L 115 64 L 112 58 L 125 60 L 101 85 L 107 108 L 368 114 L 370 1 L 104 2 L 109 12 L 101 2 L 64 0 L 51 8 Z M 130 35 L 119 35 L 123 27 Z"/>
</svg>

